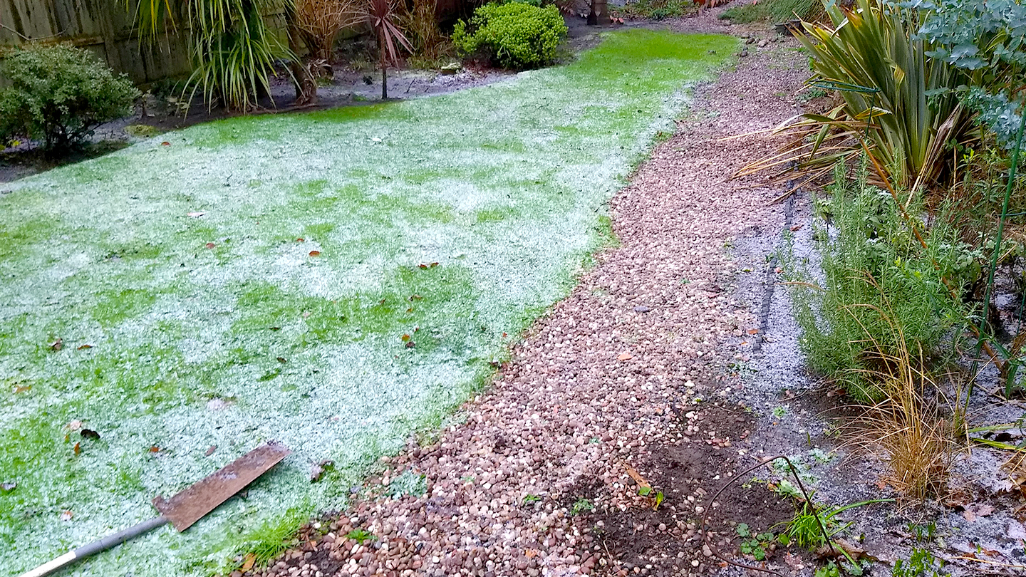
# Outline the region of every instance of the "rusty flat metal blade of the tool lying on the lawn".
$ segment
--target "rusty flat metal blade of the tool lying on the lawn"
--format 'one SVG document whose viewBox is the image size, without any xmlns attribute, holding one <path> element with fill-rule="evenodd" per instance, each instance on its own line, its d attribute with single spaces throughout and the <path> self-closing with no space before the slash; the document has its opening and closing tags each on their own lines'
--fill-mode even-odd
<svg viewBox="0 0 1026 577">
<path fill-rule="evenodd" d="M 290 453 L 287 447 L 278 443 L 262 445 L 170 499 L 158 495 L 153 506 L 174 529 L 185 531 Z"/>
</svg>

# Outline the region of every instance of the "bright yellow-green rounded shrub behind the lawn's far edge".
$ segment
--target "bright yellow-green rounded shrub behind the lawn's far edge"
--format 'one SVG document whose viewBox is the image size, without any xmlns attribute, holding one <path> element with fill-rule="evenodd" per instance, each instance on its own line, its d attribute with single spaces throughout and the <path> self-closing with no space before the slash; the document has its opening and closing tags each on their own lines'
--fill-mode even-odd
<svg viewBox="0 0 1026 577">
<path fill-rule="evenodd" d="M 492 3 L 479 7 L 470 22 L 457 23 L 452 43 L 463 54 L 481 53 L 504 68 L 524 69 L 554 61 L 565 35 L 566 25 L 553 5 Z"/>
</svg>

